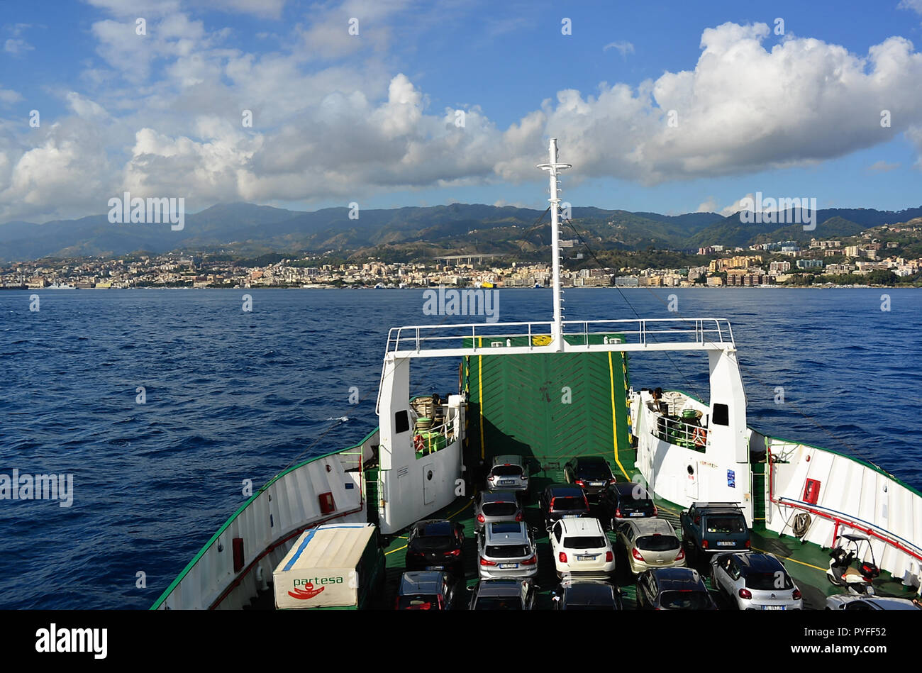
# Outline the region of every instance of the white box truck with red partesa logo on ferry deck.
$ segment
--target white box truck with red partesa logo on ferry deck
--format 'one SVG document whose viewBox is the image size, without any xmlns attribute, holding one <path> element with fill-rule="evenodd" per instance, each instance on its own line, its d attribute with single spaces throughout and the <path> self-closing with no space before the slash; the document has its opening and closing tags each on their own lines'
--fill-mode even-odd
<svg viewBox="0 0 922 673">
<path fill-rule="evenodd" d="M 301 533 L 272 573 L 276 608 L 370 608 L 383 596 L 384 550 L 374 524 L 318 525 Z"/>
</svg>

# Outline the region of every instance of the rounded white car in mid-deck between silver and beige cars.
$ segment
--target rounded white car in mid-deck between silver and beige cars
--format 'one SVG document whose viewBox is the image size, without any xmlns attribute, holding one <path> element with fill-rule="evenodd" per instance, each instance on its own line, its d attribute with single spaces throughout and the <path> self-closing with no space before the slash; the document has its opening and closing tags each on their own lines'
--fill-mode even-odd
<svg viewBox="0 0 922 673">
<path fill-rule="evenodd" d="M 609 579 L 615 550 L 598 519 L 561 519 L 550 529 L 550 550 L 557 576 Z"/>
</svg>

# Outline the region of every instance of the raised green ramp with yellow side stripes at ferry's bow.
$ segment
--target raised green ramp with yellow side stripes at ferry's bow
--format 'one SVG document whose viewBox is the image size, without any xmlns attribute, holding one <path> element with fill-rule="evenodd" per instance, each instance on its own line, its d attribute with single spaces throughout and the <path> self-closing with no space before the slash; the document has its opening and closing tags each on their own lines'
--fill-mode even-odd
<svg viewBox="0 0 922 673">
<path fill-rule="evenodd" d="M 618 336 L 590 342 L 603 337 Z M 623 353 L 482 355 L 465 364 L 471 457 L 531 456 L 550 476 L 574 455 L 603 455 L 619 479 L 632 477 Z"/>
</svg>

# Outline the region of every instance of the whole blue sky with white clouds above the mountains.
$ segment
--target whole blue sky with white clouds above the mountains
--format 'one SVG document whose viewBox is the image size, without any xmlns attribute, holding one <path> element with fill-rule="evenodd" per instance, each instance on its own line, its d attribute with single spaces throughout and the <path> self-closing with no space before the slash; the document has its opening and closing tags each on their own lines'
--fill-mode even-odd
<svg viewBox="0 0 922 673">
<path fill-rule="evenodd" d="M 543 207 L 551 135 L 578 206 L 922 205 L 922 0 L 214 5 L 4 4 L 0 221 L 124 190 L 190 210 Z"/>
</svg>

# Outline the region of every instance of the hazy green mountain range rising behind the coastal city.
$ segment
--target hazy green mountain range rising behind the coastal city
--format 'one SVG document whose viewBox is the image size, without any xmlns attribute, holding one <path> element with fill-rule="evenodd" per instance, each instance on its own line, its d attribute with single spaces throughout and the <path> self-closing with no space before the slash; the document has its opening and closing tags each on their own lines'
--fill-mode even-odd
<svg viewBox="0 0 922 673">
<path fill-rule="evenodd" d="M 520 207 L 451 204 L 434 207 L 312 212 L 221 204 L 185 216 L 182 230 L 170 224 L 112 224 L 107 215 L 0 225 L 0 261 L 41 257 L 115 256 L 136 251 L 196 251 L 234 255 L 267 253 L 373 254 L 385 261 L 427 259 L 440 254 L 500 253 L 538 258 L 550 245 L 548 217 Z M 660 215 L 573 207 L 573 226 L 562 239 L 582 238 L 602 250 L 689 250 L 707 245 L 746 247 L 757 242 L 844 237 L 882 224 L 922 217 L 922 207 L 902 211 L 826 208 L 815 230 L 800 224 L 744 224 L 739 214 Z M 539 224 L 536 224 L 540 220 Z M 793 221 L 788 219 L 786 221 Z"/>
</svg>

